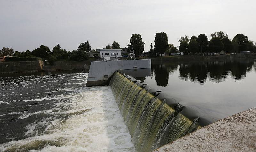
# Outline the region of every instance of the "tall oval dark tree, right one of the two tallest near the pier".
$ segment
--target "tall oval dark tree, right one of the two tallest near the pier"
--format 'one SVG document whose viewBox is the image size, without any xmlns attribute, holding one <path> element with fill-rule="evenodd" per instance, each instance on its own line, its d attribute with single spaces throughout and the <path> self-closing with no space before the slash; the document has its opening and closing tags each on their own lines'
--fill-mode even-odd
<svg viewBox="0 0 256 152">
<path fill-rule="evenodd" d="M 167 34 L 165 32 L 156 33 L 154 42 L 156 52 L 162 56 L 169 46 Z"/>
</svg>

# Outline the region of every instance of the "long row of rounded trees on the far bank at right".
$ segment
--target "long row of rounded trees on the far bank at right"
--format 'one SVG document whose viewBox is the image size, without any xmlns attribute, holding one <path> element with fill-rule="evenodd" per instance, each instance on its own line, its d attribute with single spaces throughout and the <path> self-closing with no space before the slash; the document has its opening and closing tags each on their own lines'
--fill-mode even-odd
<svg viewBox="0 0 256 152">
<path fill-rule="evenodd" d="M 241 51 L 255 51 L 254 42 L 248 40 L 244 34 L 237 34 L 232 40 L 228 38 L 228 34 L 218 31 L 209 35 L 210 40 L 205 34 L 200 34 L 197 37 L 192 36 L 190 39 L 187 35 L 181 37 L 179 52 L 188 54 L 195 53 L 240 53 Z"/>
</svg>

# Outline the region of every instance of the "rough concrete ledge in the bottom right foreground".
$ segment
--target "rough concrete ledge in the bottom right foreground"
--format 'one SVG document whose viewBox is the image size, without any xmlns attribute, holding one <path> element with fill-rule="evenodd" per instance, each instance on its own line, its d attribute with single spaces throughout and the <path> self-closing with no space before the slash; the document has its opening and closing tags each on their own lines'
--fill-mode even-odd
<svg viewBox="0 0 256 152">
<path fill-rule="evenodd" d="M 155 152 L 256 151 L 256 107 L 198 129 Z"/>
</svg>

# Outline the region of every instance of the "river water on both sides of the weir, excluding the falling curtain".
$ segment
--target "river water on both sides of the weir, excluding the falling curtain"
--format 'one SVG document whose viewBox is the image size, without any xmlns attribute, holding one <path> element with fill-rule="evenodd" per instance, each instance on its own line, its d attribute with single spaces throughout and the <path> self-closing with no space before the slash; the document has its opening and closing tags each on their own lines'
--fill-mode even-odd
<svg viewBox="0 0 256 152">
<path fill-rule="evenodd" d="M 0 151 L 134 151 L 111 88 L 85 87 L 80 72 L 0 75 Z M 136 79 L 201 126 L 256 107 L 253 59 L 154 62 L 151 72 Z"/>
</svg>

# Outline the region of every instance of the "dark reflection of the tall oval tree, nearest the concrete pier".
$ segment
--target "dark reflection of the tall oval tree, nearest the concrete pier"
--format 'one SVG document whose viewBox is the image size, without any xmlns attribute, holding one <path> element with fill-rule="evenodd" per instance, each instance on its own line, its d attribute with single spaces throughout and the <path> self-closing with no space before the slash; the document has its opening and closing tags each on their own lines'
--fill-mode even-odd
<svg viewBox="0 0 256 152">
<path fill-rule="evenodd" d="M 152 64 L 152 74 L 154 71 L 156 84 L 158 86 L 166 87 L 169 82 L 169 74 L 177 69 L 178 65 L 173 63 Z"/>
</svg>

